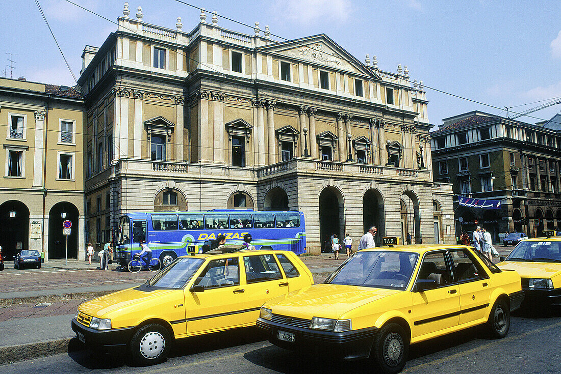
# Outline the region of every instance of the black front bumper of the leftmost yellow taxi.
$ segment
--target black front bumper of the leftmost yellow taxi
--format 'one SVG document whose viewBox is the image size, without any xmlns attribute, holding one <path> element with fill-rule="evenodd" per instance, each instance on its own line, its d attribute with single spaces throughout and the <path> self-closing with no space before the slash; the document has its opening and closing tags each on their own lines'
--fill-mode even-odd
<svg viewBox="0 0 561 374">
<path fill-rule="evenodd" d="M 80 324 L 75 318 L 72 319 L 72 330 L 76 333 L 77 338 L 91 348 L 125 348 L 129 340 L 131 340 L 134 329 L 135 328 L 132 327 L 125 329 L 95 330 Z"/>
</svg>

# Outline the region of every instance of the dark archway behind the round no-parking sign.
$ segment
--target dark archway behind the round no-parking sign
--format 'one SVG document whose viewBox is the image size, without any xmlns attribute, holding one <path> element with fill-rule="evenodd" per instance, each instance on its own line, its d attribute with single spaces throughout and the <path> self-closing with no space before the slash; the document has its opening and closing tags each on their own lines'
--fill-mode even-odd
<svg viewBox="0 0 561 374">
<path fill-rule="evenodd" d="M 62 213 L 66 217 L 62 218 Z M 49 212 L 49 259 L 66 258 L 66 235 L 63 235 L 62 222 L 72 222 L 70 235 L 68 235 L 68 258 L 78 256 L 78 232 L 81 228 L 78 225 L 79 213 L 74 204 L 61 202 L 54 204 Z"/>
</svg>

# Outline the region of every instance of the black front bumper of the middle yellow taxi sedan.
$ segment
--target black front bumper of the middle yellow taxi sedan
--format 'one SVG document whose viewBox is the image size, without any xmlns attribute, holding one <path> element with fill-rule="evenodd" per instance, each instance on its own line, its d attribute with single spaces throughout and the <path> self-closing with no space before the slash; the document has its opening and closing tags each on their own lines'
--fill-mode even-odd
<svg viewBox="0 0 561 374">
<path fill-rule="evenodd" d="M 332 331 L 311 330 L 296 326 L 279 324 L 262 318 L 257 319 L 257 327 L 269 331 L 269 342 L 289 350 L 316 350 L 344 360 L 366 358 L 378 328 L 334 333 Z M 295 335 L 294 342 L 284 342 L 277 338 L 278 331 Z"/>
</svg>

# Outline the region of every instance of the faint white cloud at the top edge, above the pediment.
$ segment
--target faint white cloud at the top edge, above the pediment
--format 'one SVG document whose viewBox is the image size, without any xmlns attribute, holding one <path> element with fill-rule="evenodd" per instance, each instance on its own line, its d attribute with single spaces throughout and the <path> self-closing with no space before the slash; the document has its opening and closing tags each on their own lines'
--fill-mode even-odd
<svg viewBox="0 0 561 374">
<path fill-rule="evenodd" d="M 288 3 L 278 3 L 277 8 L 297 24 L 347 22 L 352 13 L 350 0 L 288 0 Z"/>
</svg>

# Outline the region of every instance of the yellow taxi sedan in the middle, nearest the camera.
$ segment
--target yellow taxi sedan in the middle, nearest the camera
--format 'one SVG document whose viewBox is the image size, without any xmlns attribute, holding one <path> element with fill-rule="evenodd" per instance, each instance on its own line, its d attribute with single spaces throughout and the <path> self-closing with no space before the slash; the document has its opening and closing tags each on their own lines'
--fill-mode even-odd
<svg viewBox="0 0 561 374">
<path fill-rule="evenodd" d="M 257 326 L 279 347 L 370 358 L 398 373 L 410 344 L 483 324 L 502 338 L 522 297 L 516 272 L 468 246 L 378 247 L 353 254 L 325 283 L 266 302 Z"/>
</svg>

